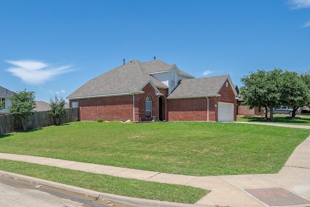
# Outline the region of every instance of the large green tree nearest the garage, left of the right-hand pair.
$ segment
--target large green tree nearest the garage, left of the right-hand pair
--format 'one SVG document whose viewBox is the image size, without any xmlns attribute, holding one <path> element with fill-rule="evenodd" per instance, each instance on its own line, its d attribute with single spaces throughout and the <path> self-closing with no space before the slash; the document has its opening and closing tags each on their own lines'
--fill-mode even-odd
<svg viewBox="0 0 310 207">
<path fill-rule="evenodd" d="M 280 105 L 280 84 L 282 70 L 275 68 L 271 71 L 257 70 L 244 76 L 241 82 L 240 94 L 250 109 L 255 106 L 265 106 L 270 109 L 270 121 L 273 119 L 273 108 Z"/>
</svg>

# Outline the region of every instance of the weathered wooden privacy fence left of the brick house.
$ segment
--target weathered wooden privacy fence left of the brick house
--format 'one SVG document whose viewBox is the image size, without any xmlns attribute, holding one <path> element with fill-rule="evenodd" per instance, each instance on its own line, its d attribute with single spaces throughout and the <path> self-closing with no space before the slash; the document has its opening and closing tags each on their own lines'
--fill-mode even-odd
<svg viewBox="0 0 310 207">
<path fill-rule="evenodd" d="M 79 108 L 67 109 L 67 112 L 60 117 L 60 124 L 79 121 Z M 56 124 L 55 118 L 48 111 L 35 111 L 28 117 L 26 122 L 27 130 L 33 128 L 48 127 Z M 13 114 L 0 116 L 0 134 L 7 134 L 22 131 L 21 120 Z"/>
</svg>

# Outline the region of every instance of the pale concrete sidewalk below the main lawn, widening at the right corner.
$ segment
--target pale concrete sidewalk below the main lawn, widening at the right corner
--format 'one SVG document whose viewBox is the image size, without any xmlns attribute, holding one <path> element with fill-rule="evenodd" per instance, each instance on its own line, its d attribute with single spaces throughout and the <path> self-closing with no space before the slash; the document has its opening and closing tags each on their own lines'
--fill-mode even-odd
<svg viewBox="0 0 310 207">
<path fill-rule="evenodd" d="M 161 183 L 188 185 L 211 190 L 210 193 L 196 203 L 197 206 L 310 206 L 310 137 L 308 137 L 294 150 L 293 154 L 278 174 L 264 175 L 173 175 L 61 159 L 5 153 L 0 153 L 0 159 L 19 160 L 97 174 L 107 174 Z M 0 174 L 5 173 L 0 172 Z M 124 196 L 121 197 L 124 199 Z M 127 199 L 130 200 L 129 198 Z M 139 203 L 139 201 L 141 202 Z M 136 206 L 143 207 L 179 206 L 170 202 L 156 201 L 156 204 L 152 202 L 145 202 L 145 199 L 135 199 L 134 204 Z"/>
</svg>

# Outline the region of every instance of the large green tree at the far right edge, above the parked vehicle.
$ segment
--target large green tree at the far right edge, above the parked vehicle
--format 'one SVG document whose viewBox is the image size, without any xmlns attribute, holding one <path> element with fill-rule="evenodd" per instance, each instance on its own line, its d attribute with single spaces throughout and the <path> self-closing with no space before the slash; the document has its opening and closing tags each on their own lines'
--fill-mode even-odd
<svg viewBox="0 0 310 207">
<path fill-rule="evenodd" d="M 300 74 L 294 71 L 284 71 L 280 84 L 281 105 L 293 108 L 292 117 L 299 107 L 310 102 L 310 89 Z"/>
</svg>

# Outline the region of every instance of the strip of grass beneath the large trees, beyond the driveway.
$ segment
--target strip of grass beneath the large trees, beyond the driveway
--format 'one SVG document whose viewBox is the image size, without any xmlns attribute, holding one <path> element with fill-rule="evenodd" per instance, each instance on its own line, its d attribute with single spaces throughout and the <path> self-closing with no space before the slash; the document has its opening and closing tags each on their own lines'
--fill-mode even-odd
<svg viewBox="0 0 310 207">
<path fill-rule="evenodd" d="M 287 116 L 288 115 L 274 115 L 273 123 L 310 126 L 309 115 L 297 114 L 296 117 L 300 117 L 300 119 L 288 119 L 286 118 Z M 243 117 L 237 117 L 237 122 L 269 122 L 270 123 L 270 119 L 269 118 L 263 119 L 258 116 L 243 116 Z"/>
</svg>

